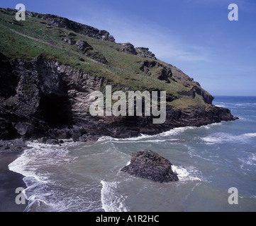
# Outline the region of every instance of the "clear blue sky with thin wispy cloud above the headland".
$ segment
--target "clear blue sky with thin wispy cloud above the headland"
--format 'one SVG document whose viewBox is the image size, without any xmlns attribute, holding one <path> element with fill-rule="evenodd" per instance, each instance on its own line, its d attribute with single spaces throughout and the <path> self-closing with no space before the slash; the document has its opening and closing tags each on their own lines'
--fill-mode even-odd
<svg viewBox="0 0 256 226">
<path fill-rule="evenodd" d="M 116 42 L 148 47 L 213 96 L 256 96 L 255 0 L 9 0 L 0 7 L 18 3 L 108 30 Z M 233 3 L 238 21 L 228 20 Z"/>
</svg>

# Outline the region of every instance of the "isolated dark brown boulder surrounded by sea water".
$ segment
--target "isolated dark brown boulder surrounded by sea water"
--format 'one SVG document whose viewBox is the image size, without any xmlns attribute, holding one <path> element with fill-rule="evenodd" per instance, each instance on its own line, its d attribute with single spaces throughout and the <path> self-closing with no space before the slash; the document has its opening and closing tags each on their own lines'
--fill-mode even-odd
<svg viewBox="0 0 256 226">
<path fill-rule="evenodd" d="M 133 153 L 130 164 L 123 167 L 121 171 L 160 183 L 179 180 L 177 174 L 172 171 L 172 163 L 152 150 Z"/>
</svg>

